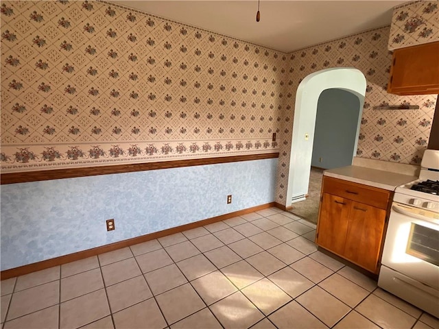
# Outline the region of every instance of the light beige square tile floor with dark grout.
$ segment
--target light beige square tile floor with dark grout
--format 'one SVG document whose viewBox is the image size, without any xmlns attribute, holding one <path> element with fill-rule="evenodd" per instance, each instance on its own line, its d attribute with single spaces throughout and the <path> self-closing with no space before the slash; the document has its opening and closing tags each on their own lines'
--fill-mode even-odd
<svg viewBox="0 0 439 329">
<path fill-rule="evenodd" d="M 270 208 L 1 281 L 1 328 L 436 328 Z"/>
</svg>

